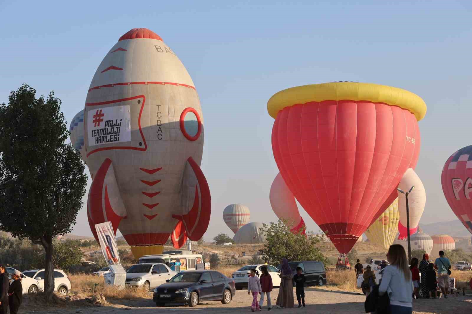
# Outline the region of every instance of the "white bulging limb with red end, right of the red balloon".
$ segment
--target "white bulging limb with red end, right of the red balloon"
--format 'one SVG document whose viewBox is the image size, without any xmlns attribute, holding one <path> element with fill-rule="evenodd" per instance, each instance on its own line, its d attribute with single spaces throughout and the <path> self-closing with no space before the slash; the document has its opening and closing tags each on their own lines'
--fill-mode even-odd
<svg viewBox="0 0 472 314">
<path fill-rule="evenodd" d="M 418 229 L 421 215 L 423 214 L 424 206 L 426 204 L 426 191 L 423 183 L 412 168 L 406 170 L 402 180 L 398 184 L 398 189 L 408 192 L 411 187 L 413 190 L 408 194 L 408 207 L 410 211 L 410 235 L 414 234 Z M 398 211 L 400 213 L 400 221 L 398 223 L 398 232 L 400 235 L 398 239 L 405 239 L 407 236 L 406 230 L 406 200 L 405 194 L 397 191 L 398 194 Z"/>
</svg>

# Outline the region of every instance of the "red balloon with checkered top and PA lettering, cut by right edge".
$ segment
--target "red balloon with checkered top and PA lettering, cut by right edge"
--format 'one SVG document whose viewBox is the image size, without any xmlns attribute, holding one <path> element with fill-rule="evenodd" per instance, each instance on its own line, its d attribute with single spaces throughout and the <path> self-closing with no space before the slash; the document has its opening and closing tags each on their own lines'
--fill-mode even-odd
<svg viewBox="0 0 472 314">
<path fill-rule="evenodd" d="M 447 158 L 441 185 L 452 211 L 472 233 L 472 145 L 459 149 Z"/>
</svg>

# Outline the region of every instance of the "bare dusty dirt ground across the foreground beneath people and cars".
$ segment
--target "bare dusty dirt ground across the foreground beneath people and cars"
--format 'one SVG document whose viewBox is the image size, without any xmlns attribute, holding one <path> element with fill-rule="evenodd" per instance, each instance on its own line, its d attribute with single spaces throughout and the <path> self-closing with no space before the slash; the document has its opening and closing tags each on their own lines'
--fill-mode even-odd
<svg viewBox="0 0 472 314">
<path fill-rule="evenodd" d="M 277 309 L 275 307 L 275 300 L 278 295 L 278 289 L 274 289 L 271 295 L 273 311 L 283 313 L 342 313 L 342 314 L 360 314 L 364 313 L 365 296 L 342 290 L 336 290 L 331 287 L 307 287 L 305 288 L 305 308 L 293 309 Z M 202 304 L 190 308 L 188 306 L 166 306 L 156 307 L 152 302 L 152 295 L 147 298 L 139 298 L 133 300 L 107 300 L 107 306 L 102 307 L 83 307 L 84 304 L 77 304 L 74 306 L 72 302 L 67 307 L 48 307 L 41 308 L 41 306 L 34 305 L 28 297 L 25 297 L 24 306 L 20 309 L 21 313 L 25 314 L 154 314 L 154 313 L 168 313 L 169 311 L 185 311 L 191 313 L 198 311 L 198 313 L 235 313 L 235 311 L 251 312 L 250 305 L 252 296 L 249 296 L 245 290 L 237 290 L 236 296 L 231 303 L 227 305 L 221 304 L 219 301 L 207 301 Z M 297 305 L 295 299 L 295 306 Z M 80 306 L 80 307 L 79 307 Z M 470 313 L 472 308 L 472 295 L 465 297 L 449 297 L 447 299 L 419 299 L 414 300 L 413 310 L 415 314 L 447 314 Z M 264 305 L 262 311 L 266 311 L 267 306 Z M 189 312 L 187 312 L 189 311 Z"/>
</svg>

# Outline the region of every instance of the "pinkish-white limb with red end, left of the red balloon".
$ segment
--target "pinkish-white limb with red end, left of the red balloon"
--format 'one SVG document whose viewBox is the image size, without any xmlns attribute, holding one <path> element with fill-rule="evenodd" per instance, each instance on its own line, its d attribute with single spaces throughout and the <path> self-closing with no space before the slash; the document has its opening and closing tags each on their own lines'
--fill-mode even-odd
<svg viewBox="0 0 472 314">
<path fill-rule="evenodd" d="M 287 184 L 280 173 L 277 174 L 274 182 L 272 182 L 269 199 L 270 206 L 275 215 L 277 215 L 279 219 L 291 223 L 288 227 L 291 228 L 292 232 L 296 233 L 301 228 L 306 228 L 305 222 L 303 221 L 302 216 L 300 216 L 300 212 L 296 206 L 295 197 L 292 191 L 287 187 Z M 305 231 L 303 230 L 303 232 Z"/>
</svg>

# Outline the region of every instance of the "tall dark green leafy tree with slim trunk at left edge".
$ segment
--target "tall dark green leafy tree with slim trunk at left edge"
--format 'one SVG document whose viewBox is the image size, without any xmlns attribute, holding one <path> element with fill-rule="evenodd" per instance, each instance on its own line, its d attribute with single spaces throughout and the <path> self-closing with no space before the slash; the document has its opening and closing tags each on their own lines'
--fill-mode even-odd
<svg viewBox="0 0 472 314">
<path fill-rule="evenodd" d="M 87 177 L 61 101 L 23 84 L 0 104 L 0 229 L 42 245 L 46 301 L 54 291 L 53 239 L 72 231 Z"/>
</svg>

